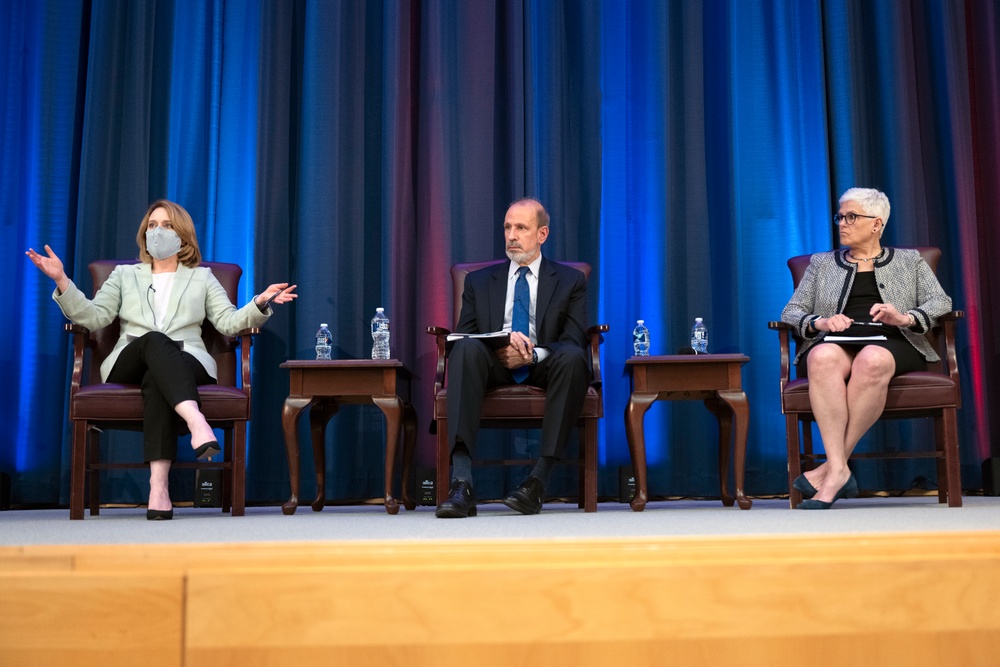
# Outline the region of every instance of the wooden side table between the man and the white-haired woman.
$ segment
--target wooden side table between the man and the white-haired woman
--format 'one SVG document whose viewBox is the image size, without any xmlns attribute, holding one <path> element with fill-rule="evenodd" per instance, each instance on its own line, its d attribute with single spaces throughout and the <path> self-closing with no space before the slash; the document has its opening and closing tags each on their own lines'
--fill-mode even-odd
<svg viewBox="0 0 1000 667">
<path fill-rule="evenodd" d="M 719 420 L 719 486 L 722 504 L 732 507 L 729 495 L 729 439 L 735 431 L 736 502 L 750 509 L 743 491 L 750 406 L 743 392 L 741 368 L 750 361 L 742 354 L 676 354 L 632 357 L 625 362 L 631 373 L 632 395 L 625 407 L 625 435 L 635 470 L 632 509 L 641 512 L 648 501 L 646 487 L 646 438 L 643 418 L 653 401 L 701 399 Z M 723 404 L 725 409 L 723 409 Z"/>
</svg>

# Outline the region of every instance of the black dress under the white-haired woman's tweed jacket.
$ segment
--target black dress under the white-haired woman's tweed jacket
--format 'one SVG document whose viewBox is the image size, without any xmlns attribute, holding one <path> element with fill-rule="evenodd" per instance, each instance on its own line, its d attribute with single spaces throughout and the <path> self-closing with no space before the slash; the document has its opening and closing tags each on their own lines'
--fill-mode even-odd
<svg viewBox="0 0 1000 667">
<path fill-rule="evenodd" d="M 855 322 L 871 322 L 870 315 L 872 306 L 881 303 L 882 296 L 878 293 L 878 286 L 875 284 L 875 272 L 858 272 L 854 277 L 854 284 L 851 285 L 851 293 L 847 296 L 847 304 L 844 306 L 844 315 L 847 315 Z M 917 348 L 906 340 L 899 327 L 890 325 L 882 327 L 870 327 L 852 324 L 844 331 L 838 332 L 839 336 L 876 336 L 883 335 L 885 340 L 858 341 L 834 343 L 822 341 L 820 345 L 841 345 L 843 347 L 857 347 L 863 345 L 878 345 L 884 347 L 892 353 L 896 360 L 896 372 L 893 377 L 902 373 L 927 370 L 927 361 Z M 809 355 L 806 355 L 808 357 Z M 798 377 L 806 377 L 806 359 L 803 358 L 795 366 Z"/>
</svg>

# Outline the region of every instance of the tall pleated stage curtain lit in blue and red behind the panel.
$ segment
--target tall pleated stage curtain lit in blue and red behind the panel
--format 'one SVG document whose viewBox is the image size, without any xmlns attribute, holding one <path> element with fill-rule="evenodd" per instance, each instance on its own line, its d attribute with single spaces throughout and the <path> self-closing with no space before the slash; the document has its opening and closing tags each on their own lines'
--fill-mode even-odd
<svg viewBox="0 0 1000 667">
<path fill-rule="evenodd" d="M 552 215 L 547 256 L 593 266 L 591 320 L 611 326 L 601 494 L 617 495 L 628 463 L 636 319 L 662 354 L 697 316 L 711 351 L 751 358 L 747 491 L 782 493 L 766 323 L 791 294 L 786 259 L 834 247 L 830 218 L 854 185 L 888 193 L 886 243 L 944 250 L 942 284 L 967 313 L 963 480 L 978 486 L 1000 432 L 998 35 L 995 4 L 974 0 L 8 0 L 0 225 L 13 242 L 0 277 L 16 305 L 0 337 L 0 470 L 14 501 L 65 503 L 69 489 L 68 340 L 51 281 L 22 253 L 50 244 L 89 291 L 87 264 L 134 257 L 158 197 L 192 213 L 206 259 L 244 268 L 242 302 L 299 285 L 254 345 L 250 502 L 288 493 L 280 363 L 310 357 L 320 322 L 339 357 L 369 356 L 378 306 L 417 376 L 418 465 L 433 465 L 423 330 L 453 323 L 447 268 L 502 257 L 503 213 L 526 195 Z M 879 425 L 863 446 L 928 431 Z M 646 432 L 652 494 L 717 494 L 701 405 L 657 404 Z M 136 437 L 103 440 L 134 457 Z M 533 451 L 530 432 L 494 437 Z M 331 421 L 327 497 L 381 495 L 383 438 L 374 407 Z M 862 486 L 894 488 L 935 476 L 926 462 L 861 472 Z M 481 495 L 513 477 L 483 472 Z M 103 483 L 106 500 L 145 500 L 142 473 Z M 560 474 L 552 491 L 574 487 Z"/>
</svg>

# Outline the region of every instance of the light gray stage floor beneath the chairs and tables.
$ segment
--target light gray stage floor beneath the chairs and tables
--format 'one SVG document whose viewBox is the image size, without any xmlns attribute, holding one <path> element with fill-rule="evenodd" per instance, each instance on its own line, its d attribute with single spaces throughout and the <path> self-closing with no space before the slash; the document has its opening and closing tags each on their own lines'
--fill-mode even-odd
<svg viewBox="0 0 1000 667">
<path fill-rule="evenodd" d="M 230 517 L 217 509 L 178 507 L 173 521 L 146 521 L 145 509 L 102 509 L 100 516 L 70 521 L 68 510 L 0 512 L 0 545 L 247 543 L 368 540 L 484 540 L 547 538 L 733 537 L 788 534 L 912 533 L 1000 530 L 1000 497 L 966 496 L 949 508 L 936 496 L 856 498 L 832 510 L 790 510 L 785 499 L 754 499 L 753 508 L 723 507 L 718 500 L 650 503 L 644 512 L 602 503 L 586 514 L 575 505 L 551 503 L 541 514 L 521 516 L 499 503 L 480 505 L 479 516 L 436 519 L 433 507 L 400 509 L 389 516 L 381 505 L 300 507 L 284 516 L 280 507 L 251 507 Z"/>
</svg>

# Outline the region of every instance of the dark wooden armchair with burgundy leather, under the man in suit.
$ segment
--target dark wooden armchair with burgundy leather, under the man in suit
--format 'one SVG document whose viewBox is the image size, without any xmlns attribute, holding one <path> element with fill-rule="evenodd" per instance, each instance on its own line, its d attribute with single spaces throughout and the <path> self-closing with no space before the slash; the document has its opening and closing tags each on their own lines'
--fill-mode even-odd
<svg viewBox="0 0 1000 667">
<path fill-rule="evenodd" d="M 471 271 L 499 264 L 504 260 L 455 264 L 451 267 L 453 286 L 453 313 L 457 324 L 462 312 L 462 294 L 465 291 L 465 276 Z M 582 262 L 568 262 L 590 278 L 590 265 Z M 593 380 L 587 389 L 578 425 L 580 427 L 580 467 L 579 506 L 586 512 L 597 511 L 597 420 L 604 417 L 604 399 L 601 394 L 600 344 L 604 342 L 602 333 L 608 330 L 606 324 L 590 327 L 587 338 L 590 347 Z M 445 340 L 451 331 L 442 327 L 427 327 L 427 333 L 437 339 L 437 371 L 434 378 L 434 415 L 431 432 L 437 434 L 437 502 L 448 497 L 451 448 L 448 442 L 448 388 L 445 386 L 447 359 Z M 484 428 L 540 428 L 545 410 L 545 390 L 528 385 L 505 385 L 486 394 L 483 402 Z M 476 461 L 479 465 L 530 465 L 529 460 L 504 459 L 500 461 Z"/>
</svg>

